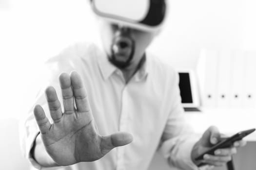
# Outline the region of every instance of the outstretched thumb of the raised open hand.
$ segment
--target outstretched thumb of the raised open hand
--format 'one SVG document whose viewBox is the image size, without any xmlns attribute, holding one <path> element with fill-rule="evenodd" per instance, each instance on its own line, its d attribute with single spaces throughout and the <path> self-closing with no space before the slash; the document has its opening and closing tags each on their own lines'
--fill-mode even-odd
<svg viewBox="0 0 256 170">
<path fill-rule="evenodd" d="M 102 136 L 101 139 L 101 153 L 105 155 L 113 148 L 118 146 L 123 146 L 131 143 L 133 141 L 133 136 L 126 132 L 118 132 L 109 136 Z"/>
</svg>

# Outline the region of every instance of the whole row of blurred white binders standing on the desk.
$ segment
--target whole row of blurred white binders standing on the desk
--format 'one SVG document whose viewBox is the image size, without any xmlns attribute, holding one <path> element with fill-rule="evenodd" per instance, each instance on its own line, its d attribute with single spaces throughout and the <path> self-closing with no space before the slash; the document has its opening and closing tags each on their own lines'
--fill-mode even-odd
<svg viewBox="0 0 256 170">
<path fill-rule="evenodd" d="M 197 75 L 202 106 L 256 108 L 256 52 L 202 50 Z"/>
</svg>

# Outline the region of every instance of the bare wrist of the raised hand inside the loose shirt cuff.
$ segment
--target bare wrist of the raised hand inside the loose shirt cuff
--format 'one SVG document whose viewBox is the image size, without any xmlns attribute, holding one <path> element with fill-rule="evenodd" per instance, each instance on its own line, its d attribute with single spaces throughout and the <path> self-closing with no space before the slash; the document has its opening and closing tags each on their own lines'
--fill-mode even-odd
<svg viewBox="0 0 256 170">
<path fill-rule="evenodd" d="M 59 166 L 51 156 L 46 152 L 40 134 L 37 136 L 34 147 L 31 150 L 34 159 L 42 167 L 56 167 Z"/>
</svg>

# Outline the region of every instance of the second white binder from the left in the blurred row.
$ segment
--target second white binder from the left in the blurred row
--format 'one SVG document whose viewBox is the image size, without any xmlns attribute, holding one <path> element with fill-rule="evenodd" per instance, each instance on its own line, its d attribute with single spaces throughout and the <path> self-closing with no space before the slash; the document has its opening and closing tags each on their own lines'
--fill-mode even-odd
<svg viewBox="0 0 256 170">
<path fill-rule="evenodd" d="M 219 51 L 217 70 L 217 107 L 229 107 L 231 101 L 231 51 Z"/>
</svg>

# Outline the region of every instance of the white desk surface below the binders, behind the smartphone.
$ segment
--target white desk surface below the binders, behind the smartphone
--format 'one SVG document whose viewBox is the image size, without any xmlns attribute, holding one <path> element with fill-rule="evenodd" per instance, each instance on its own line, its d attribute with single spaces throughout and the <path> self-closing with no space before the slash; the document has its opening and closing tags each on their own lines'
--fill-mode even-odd
<svg viewBox="0 0 256 170">
<path fill-rule="evenodd" d="M 185 112 L 185 118 L 198 135 L 211 125 L 217 126 L 220 133 L 232 136 L 239 131 L 256 128 L 256 109 L 203 108 L 201 112 Z M 256 132 L 244 138 L 256 141 Z"/>
</svg>

